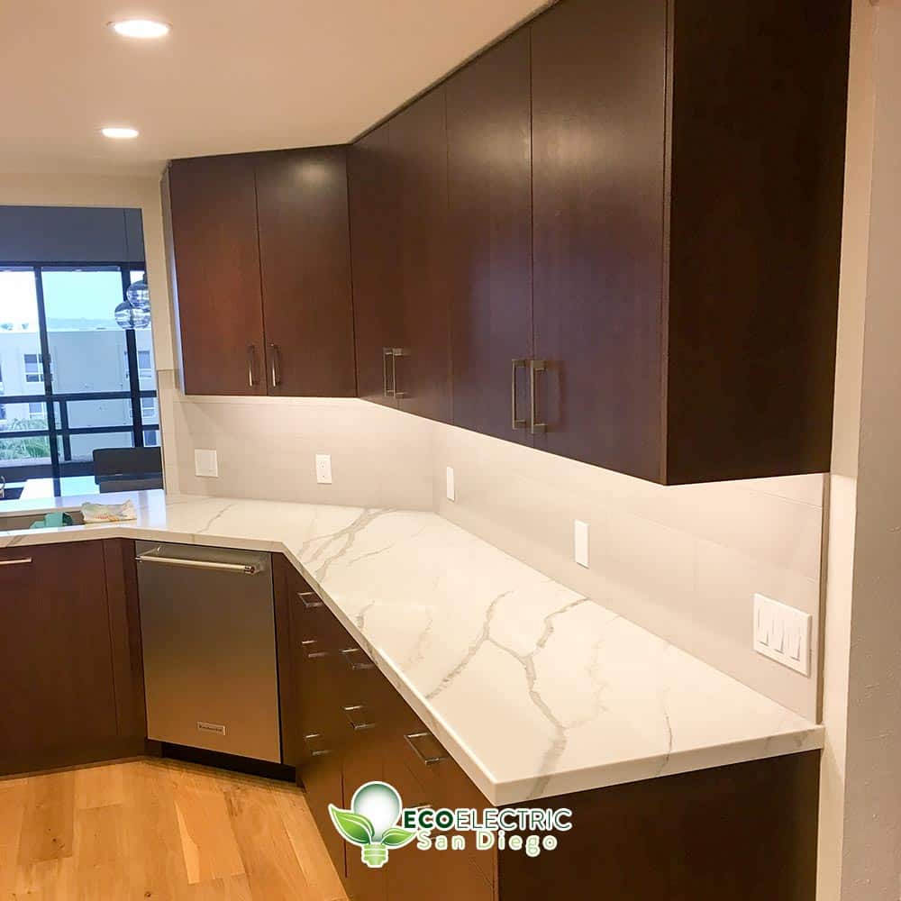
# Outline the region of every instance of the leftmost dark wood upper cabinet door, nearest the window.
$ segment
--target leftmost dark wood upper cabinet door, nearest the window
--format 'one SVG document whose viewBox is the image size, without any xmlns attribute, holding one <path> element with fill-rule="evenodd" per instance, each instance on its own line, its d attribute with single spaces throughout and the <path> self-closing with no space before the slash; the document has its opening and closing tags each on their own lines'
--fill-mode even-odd
<svg viewBox="0 0 901 901">
<path fill-rule="evenodd" d="M 169 193 L 185 391 L 264 395 L 253 159 L 178 159 Z"/>
</svg>

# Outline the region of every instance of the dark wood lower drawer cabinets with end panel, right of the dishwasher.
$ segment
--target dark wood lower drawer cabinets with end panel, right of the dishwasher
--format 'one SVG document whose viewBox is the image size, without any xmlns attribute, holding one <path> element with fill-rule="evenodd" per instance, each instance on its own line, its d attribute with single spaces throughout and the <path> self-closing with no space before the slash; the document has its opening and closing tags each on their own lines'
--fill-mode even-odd
<svg viewBox="0 0 901 901">
<path fill-rule="evenodd" d="M 494 805 L 313 589 L 279 566 L 292 574 L 298 778 L 353 901 L 814 901 L 818 751 L 542 798 L 534 806 L 572 811 L 572 829 L 537 857 L 478 851 L 468 833 L 465 850 L 413 844 L 369 869 L 328 815 L 366 782 L 394 786 L 405 807 Z"/>
</svg>

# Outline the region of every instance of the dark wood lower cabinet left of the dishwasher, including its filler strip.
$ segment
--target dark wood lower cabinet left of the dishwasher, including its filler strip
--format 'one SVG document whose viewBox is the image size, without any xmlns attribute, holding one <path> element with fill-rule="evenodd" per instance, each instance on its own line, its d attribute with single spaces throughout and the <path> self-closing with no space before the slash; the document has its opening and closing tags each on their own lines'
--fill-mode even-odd
<svg viewBox="0 0 901 901">
<path fill-rule="evenodd" d="M 0 775 L 145 748 L 133 542 L 0 550 Z"/>
</svg>

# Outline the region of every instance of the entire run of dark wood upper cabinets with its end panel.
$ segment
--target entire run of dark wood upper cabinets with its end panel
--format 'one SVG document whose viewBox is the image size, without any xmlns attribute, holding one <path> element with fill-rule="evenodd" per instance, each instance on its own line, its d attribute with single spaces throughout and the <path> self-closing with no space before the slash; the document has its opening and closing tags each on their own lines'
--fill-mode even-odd
<svg viewBox="0 0 901 901">
<path fill-rule="evenodd" d="M 850 20 L 560 0 L 350 148 L 176 162 L 186 390 L 662 484 L 828 471 Z"/>
</svg>

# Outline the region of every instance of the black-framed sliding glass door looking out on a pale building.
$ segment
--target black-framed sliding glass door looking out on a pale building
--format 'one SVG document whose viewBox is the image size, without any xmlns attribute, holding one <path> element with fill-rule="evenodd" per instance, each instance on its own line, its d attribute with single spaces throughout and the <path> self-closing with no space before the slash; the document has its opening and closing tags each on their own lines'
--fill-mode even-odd
<svg viewBox="0 0 901 901">
<path fill-rule="evenodd" d="M 97 448 L 159 444 L 149 314 L 117 321 L 142 266 L 0 264 L 0 476 L 93 475 Z M 122 317 L 120 316 L 120 319 Z M 144 327 L 140 327 L 144 326 Z"/>
</svg>

